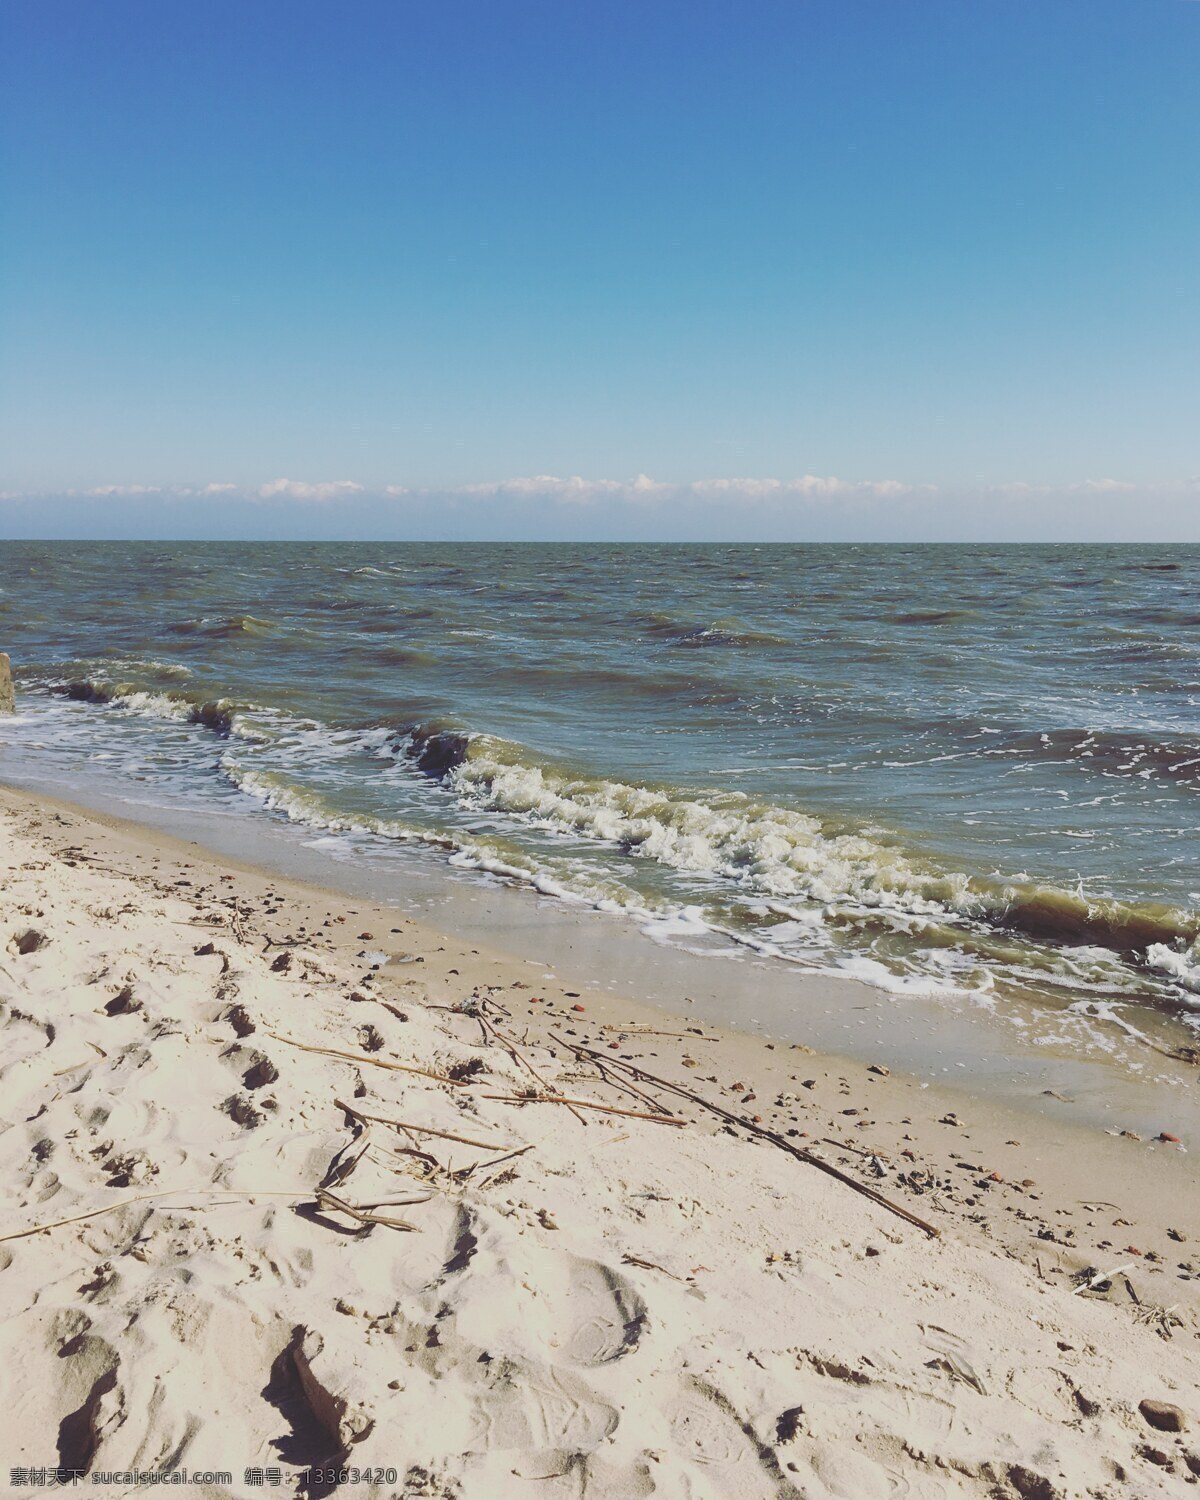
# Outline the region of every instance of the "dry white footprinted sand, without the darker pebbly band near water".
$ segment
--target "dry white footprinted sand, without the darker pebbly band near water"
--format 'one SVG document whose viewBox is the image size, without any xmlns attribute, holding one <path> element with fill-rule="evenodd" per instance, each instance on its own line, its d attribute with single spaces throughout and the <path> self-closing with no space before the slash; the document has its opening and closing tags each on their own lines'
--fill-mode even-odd
<svg viewBox="0 0 1200 1500">
<path fill-rule="evenodd" d="M 932 1239 L 664 1092 L 686 1128 L 489 1100 L 534 1080 L 423 1004 L 416 966 L 364 986 L 382 933 L 354 964 L 312 926 L 264 951 L 220 904 L 240 876 L 196 856 L 134 878 L 81 856 L 84 831 L 4 798 L 0 1236 L 123 1204 L 0 1242 L 4 1470 L 230 1470 L 192 1492 L 237 1496 L 262 1492 L 248 1466 L 278 1467 L 276 1494 L 354 1466 L 398 1479 L 342 1492 L 480 1500 L 1196 1492 L 1191 1304 L 1156 1328 L 954 1220 Z M 498 981 L 477 963 L 459 998 Z M 694 1044 L 702 1070 L 720 1046 Z M 646 1108 L 562 1052 L 522 1056 Z M 489 1148 L 368 1137 L 338 1100 Z M 416 1232 L 318 1208 L 338 1172 L 342 1202 Z M 1160 1280 L 1167 1305 L 1186 1290 Z M 1186 1430 L 1155 1431 L 1146 1398 Z"/>
</svg>

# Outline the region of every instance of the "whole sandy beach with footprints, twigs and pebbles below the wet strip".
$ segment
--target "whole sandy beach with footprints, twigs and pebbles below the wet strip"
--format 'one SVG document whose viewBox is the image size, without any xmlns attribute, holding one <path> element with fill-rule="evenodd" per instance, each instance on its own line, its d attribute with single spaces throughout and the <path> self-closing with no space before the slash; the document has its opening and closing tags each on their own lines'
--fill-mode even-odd
<svg viewBox="0 0 1200 1500">
<path fill-rule="evenodd" d="M 0 807 L 14 1485 L 1192 1492 L 1188 1142 Z"/>
</svg>

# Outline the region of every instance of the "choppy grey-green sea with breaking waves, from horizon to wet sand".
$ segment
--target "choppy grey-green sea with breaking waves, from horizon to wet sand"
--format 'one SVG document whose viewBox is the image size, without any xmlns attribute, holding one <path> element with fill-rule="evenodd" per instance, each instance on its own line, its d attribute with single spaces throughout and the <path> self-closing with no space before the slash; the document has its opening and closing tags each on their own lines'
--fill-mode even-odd
<svg viewBox="0 0 1200 1500">
<path fill-rule="evenodd" d="M 668 940 L 1200 1016 L 1197 548 L 6 543 L 0 590 L 6 758 Z"/>
</svg>

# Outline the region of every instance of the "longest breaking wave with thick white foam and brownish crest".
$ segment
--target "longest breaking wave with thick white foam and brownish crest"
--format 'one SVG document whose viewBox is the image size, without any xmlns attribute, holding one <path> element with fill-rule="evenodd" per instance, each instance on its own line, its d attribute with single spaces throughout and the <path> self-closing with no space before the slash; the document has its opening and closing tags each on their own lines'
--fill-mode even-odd
<svg viewBox="0 0 1200 1500">
<path fill-rule="evenodd" d="M 538 764 L 524 747 L 490 735 L 418 729 L 404 752 L 418 770 L 442 780 L 464 807 L 591 838 L 754 896 L 818 903 L 831 922 L 876 921 L 894 928 L 933 920 L 948 924 L 944 944 L 962 940 L 963 927 L 988 936 L 1010 933 L 1056 950 L 1118 956 L 1200 988 L 1194 968 L 1200 960 L 1188 957 L 1200 939 L 1200 921 L 1168 904 L 969 876 L 867 830 L 842 830 L 741 792 L 699 795 L 578 776 Z M 921 936 L 936 946 L 932 932 Z M 1172 968 L 1164 952 L 1184 963 Z M 1014 950 L 1008 957 L 1022 956 Z"/>
</svg>

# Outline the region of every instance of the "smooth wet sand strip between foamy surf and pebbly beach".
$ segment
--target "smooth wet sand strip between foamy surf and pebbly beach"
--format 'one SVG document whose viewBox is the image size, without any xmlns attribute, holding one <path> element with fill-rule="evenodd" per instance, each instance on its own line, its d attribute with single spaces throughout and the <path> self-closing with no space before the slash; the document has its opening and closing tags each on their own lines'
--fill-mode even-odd
<svg viewBox="0 0 1200 1500">
<path fill-rule="evenodd" d="M 303 826 L 268 812 L 140 807 L 105 790 L 84 804 L 46 790 L 39 778 L 0 783 L 0 794 L 6 788 L 176 852 L 201 848 L 231 868 L 334 902 L 396 906 L 430 934 L 453 933 L 496 957 L 562 972 L 576 988 L 598 988 L 603 975 L 609 999 L 748 1038 L 800 1042 L 849 1065 L 885 1059 L 924 1084 L 1032 1114 L 1041 1128 L 1084 1125 L 1144 1138 L 1167 1130 L 1200 1142 L 1200 1070 L 1096 1017 L 1014 996 L 897 993 L 742 948 L 693 952 L 648 936 L 627 914 L 576 906 L 420 855 L 382 866 L 328 855 Z"/>
</svg>

